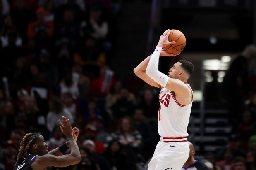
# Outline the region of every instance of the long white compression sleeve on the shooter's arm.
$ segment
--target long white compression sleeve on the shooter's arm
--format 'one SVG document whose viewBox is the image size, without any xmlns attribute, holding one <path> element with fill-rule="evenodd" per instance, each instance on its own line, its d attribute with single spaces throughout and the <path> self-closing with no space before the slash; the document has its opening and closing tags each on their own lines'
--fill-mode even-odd
<svg viewBox="0 0 256 170">
<path fill-rule="evenodd" d="M 153 52 L 148 62 L 148 66 L 146 68 L 146 74 L 155 82 L 165 87 L 169 80 L 169 77 L 163 74 L 162 72 L 158 71 L 159 55 L 161 53 L 161 50 L 162 50 L 162 47 L 156 47 L 155 51 Z"/>
</svg>

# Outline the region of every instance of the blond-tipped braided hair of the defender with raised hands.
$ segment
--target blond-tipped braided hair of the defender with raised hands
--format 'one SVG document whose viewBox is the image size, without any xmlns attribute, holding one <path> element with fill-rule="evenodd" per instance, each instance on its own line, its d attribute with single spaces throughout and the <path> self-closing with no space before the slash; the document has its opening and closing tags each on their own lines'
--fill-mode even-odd
<svg viewBox="0 0 256 170">
<path fill-rule="evenodd" d="M 27 151 L 31 148 L 31 145 L 34 144 L 39 137 L 37 133 L 27 133 L 19 144 L 19 152 L 16 155 L 16 160 L 20 161 Z"/>
</svg>

